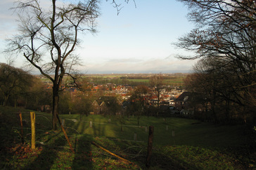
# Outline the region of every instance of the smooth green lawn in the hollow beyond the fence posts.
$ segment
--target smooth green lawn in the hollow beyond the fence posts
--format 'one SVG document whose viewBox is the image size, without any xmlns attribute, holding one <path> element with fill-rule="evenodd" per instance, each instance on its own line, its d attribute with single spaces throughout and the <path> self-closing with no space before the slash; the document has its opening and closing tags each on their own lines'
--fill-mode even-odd
<svg viewBox="0 0 256 170">
<path fill-rule="evenodd" d="M 246 136 L 243 136 L 243 125 L 222 126 L 182 118 L 166 118 L 164 121 L 163 118 L 142 117 L 138 126 L 136 116 L 131 116 L 129 120 L 124 118 L 124 125 L 115 117 L 110 118 L 111 122 L 108 122 L 109 118 L 101 115 L 83 115 L 81 120 L 79 115 L 61 117 L 65 118 L 65 126 L 72 128 L 69 129 L 72 133 L 127 140 L 133 140 L 136 134 L 137 140 L 144 142 L 148 140 L 148 127 L 153 125 L 156 145 L 241 146 L 246 139 Z M 92 127 L 89 127 L 90 121 Z"/>
</svg>

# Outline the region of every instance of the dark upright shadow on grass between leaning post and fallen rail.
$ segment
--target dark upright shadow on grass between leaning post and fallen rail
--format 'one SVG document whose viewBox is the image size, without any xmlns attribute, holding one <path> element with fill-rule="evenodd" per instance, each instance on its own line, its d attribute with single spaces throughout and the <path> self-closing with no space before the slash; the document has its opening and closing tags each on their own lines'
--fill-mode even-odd
<svg viewBox="0 0 256 170">
<path fill-rule="evenodd" d="M 77 136 L 72 169 L 93 169 L 90 141 L 92 141 L 92 139 L 87 135 Z"/>
</svg>

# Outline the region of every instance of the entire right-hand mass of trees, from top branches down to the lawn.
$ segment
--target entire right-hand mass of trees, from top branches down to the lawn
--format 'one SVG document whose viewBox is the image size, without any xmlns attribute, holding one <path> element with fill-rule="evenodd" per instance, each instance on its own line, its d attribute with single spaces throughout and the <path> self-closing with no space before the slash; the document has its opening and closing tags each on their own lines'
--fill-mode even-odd
<svg viewBox="0 0 256 170">
<path fill-rule="evenodd" d="M 211 102 L 215 121 L 215 109 L 226 110 L 226 120 L 237 108 L 241 110 L 234 117 L 252 118 L 256 107 L 255 1 L 179 1 L 189 7 L 188 18 L 196 23 L 196 29 L 177 43 L 195 53 L 180 58 L 201 59 L 194 69 L 194 81 L 202 85 L 207 80 L 197 92 Z"/>
</svg>

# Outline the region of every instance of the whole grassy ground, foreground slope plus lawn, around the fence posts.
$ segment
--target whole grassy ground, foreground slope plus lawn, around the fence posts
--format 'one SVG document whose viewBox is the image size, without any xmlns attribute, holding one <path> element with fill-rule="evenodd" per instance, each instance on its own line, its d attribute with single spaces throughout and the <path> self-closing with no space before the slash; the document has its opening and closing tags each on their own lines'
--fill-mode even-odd
<svg viewBox="0 0 256 170">
<path fill-rule="evenodd" d="M 25 144 L 20 144 L 23 113 Z M 146 169 L 148 126 L 154 126 L 151 169 L 253 169 L 255 151 L 243 125 L 213 125 L 182 118 L 124 118 L 60 115 L 75 153 L 61 131 L 51 130 L 51 115 L 36 113 L 37 148 L 30 149 L 29 111 L 0 107 L 0 169 Z M 91 125 L 91 127 L 90 127 Z M 122 131 L 121 131 L 122 127 Z M 136 139 L 134 139 L 136 134 Z M 92 145 L 133 162 L 125 164 Z"/>
</svg>

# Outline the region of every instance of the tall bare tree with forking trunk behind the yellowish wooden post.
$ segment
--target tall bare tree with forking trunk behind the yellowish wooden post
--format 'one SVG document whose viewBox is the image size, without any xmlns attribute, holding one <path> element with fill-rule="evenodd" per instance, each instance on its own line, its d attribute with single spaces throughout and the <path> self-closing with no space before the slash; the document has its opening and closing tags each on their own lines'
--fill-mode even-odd
<svg viewBox="0 0 256 170">
<path fill-rule="evenodd" d="M 45 4 L 44 4 L 45 5 Z M 59 92 L 65 75 L 75 77 L 70 69 L 77 64 L 74 50 L 79 32 L 94 32 L 98 1 L 62 3 L 52 0 L 49 6 L 40 1 L 19 1 L 15 10 L 20 16 L 20 33 L 9 40 L 10 51 L 17 51 L 53 83 L 53 129 L 57 128 Z M 53 74 L 53 76 L 51 76 Z"/>
</svg>

